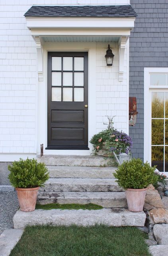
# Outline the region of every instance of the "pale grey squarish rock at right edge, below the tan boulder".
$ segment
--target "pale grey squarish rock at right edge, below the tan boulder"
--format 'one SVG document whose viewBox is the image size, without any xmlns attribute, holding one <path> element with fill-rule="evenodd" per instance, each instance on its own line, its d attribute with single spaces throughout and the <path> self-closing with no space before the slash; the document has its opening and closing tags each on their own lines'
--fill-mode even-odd
<svg viewBox="0 0 168 256">
<path fill-rule="evenodd" d="M 153 233 L 158 244 L 168 244 L 168 224 L 154 225 Z"/>
</svg>

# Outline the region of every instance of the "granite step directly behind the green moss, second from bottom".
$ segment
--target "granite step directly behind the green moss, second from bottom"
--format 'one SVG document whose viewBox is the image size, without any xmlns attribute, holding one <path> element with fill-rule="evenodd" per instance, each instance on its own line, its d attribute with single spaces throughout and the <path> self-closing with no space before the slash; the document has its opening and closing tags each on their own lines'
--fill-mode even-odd
<svg viewBox="0 0 168 256">
<path fill-rule="evenodd" d="M 98 204 L 103 207 L 127 208 L 125 192 L 39 192 L 39 204 Z"/>
</svg>

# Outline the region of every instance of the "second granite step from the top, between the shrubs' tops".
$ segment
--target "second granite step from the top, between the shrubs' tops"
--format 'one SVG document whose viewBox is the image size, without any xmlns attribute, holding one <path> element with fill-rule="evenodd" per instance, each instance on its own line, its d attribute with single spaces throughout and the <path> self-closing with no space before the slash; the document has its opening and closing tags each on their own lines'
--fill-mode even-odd
<svg viewBox="0 0 168 256">
<path fill-rule="evenodd" d="M 46 166 L 50 178 L 114 178 L 117 167 L 106 166 Z"/>
</svg>

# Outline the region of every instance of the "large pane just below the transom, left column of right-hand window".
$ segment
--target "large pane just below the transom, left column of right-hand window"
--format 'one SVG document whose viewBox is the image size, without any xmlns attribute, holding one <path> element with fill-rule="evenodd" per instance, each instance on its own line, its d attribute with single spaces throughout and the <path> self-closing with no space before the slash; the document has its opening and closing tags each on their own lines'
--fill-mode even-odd
<svg viewBox="0 0 168 256">
<path fill-rule="evenodd" d="M 164 92 L 152 92 L 152 118 L 164 117 Z"/>
</svg>

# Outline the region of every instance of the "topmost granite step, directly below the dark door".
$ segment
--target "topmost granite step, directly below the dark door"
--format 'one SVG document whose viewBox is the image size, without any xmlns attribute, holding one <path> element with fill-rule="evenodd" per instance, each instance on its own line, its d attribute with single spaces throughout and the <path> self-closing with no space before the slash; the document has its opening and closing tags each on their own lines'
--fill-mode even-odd
<svg viewBox="0 0 168 256">
<path fill-rule="evenodd" d="M 116 166 L 112 158 L 103 156 L 45 155 L 37 156 L 37 161 L 47 166 Z"/>
</svg>

